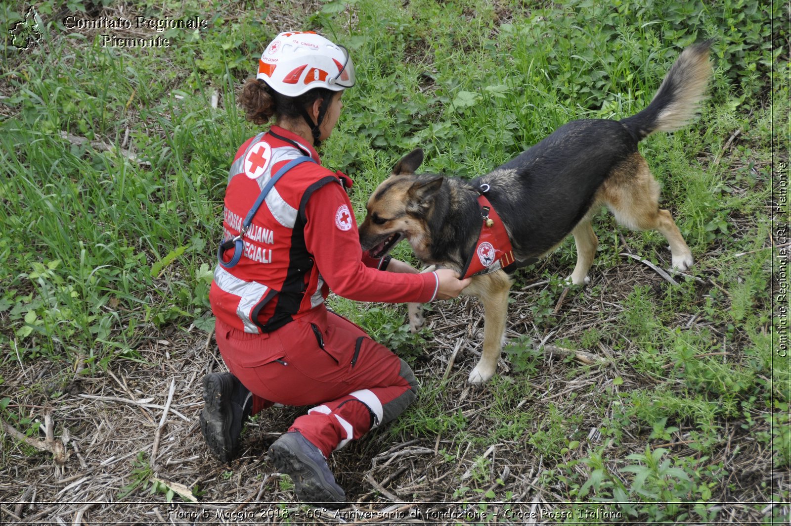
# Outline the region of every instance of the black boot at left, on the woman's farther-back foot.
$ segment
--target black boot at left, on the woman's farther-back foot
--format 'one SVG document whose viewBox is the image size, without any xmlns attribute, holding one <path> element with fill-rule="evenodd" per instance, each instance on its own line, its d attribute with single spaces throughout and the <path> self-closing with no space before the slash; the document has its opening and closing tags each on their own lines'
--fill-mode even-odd
<svg viewBox="0 0 791 526">
<path fill-rule="evenodd" d="M 221 462 L 239 454 L 242 425 L 252 413 L 252 393 L 229 372 L 203 377 L 200 429 L 210 452 Z"/>
</svg>

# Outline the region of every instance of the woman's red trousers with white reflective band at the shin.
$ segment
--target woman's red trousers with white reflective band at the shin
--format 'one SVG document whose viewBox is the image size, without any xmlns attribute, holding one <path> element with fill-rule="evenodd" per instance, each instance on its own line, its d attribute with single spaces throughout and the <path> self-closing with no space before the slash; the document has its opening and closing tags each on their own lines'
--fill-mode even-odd
<svg viewBox="0 0 791 526">
<path fill-rule="evenodd" d="M 391 421 L 414 400 L 409 365 L 324 305 L 269 334 L 216 324 L 231 373 L 253 394 L 253 413 L 273 403 L 314 406 L 299 431 L 324 456 Z"/>
</svg>

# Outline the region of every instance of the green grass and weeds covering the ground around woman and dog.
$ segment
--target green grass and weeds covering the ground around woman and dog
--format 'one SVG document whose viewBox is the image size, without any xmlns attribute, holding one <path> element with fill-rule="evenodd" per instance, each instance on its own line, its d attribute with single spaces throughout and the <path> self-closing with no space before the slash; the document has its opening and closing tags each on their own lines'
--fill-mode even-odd
<svg viewBox="0 0 791 526">
<path fill-rule="evenodd" d="M 48 21 L 45 48 L 19 52 L 8 38 L 3 41 L 5 360 L 59 363 L 64 379 L 74 368 L 101 375 L 114 360 L 142 360 L 137 349 L 161 330 L 212 326 L 207 294 L 227 169 L 238 145 L 255 133 L 234 93 L 280 28 L 262 23 L 261 6 L 231 13 L 221 3 L 209 11 L 200 2 L 166 3 L 184 17 L 217 14 L 199 34 L 165 32 L 176 43 L 166 50 L 100 48 L 96 40 L 68 34 L 52 20 L 55 3 L 43 2 L 38 9 Z M 84 7 L 73 4 L 71 9 Z M 477 176 L 568 120 L 617 119 L 644 108 L 680 50 L 713 37 L 715 74 L 699 124 L 652 136 L 641 151 L 696 257 L 690 273 L 717 285 L 701 288 L 682 280 L 659 291 L 630 285 L 614 322 L 567 342 L 584 349 L 609 345 L 623 355 L 619 368 L 644 381 L 596 393 L 599 413 L 589 417 L 604 422 L 601 431 L 615 449 L 570 447 L 578 446 L 581 432 L 569 401 L 519 406 L 535 396 L 517 384 L 536 375 L 540 358 L 518 347 L 507 355 L 516 382 L 489 387 L 489 433 L 469 429 L 464 414 L 448 410 L 442 399 L 448 385 L 438 379 L 443 371 L 437 379 L 422 379 L 418 402 L 386 433 L 449 436 L 456 446 L 471 441 L 482 449 L 522 440 L 525 448 L 545 453 L 543 482 L 562 497 L 615 509 L 621 491 L 642 503 L 626 513 L 657 520 L 683 520 L 682 511 L 657 508 L 666 497 L 711 499 L 728 467 L 703 458 L 724 447 L 729 426 L 753 433 L 771 422 L 770 432 L 755 432 L 755 440 L 768 448 L 776 467 L 787 469 L 791 372 L 789 361 L 771 349 L 779 322 L 770 285 L 780 277 L 771 267 L 776 251 L 767 242 L 766 214 L 771 129 L 777 134 L 789 126 L 787 57 L 777 45 L 788 35 L 771 21 L 784 16 L 779 3 L 332 0 L 316 12 L 287 0 L 263 6 L 295 13 L 304 29 L 320 30 L 352 51 L 358 84 L 344 97 L 343 116 L 322 155 L 326 166 L 354 177 L 358 219 L 369 193 L 411 148 L 426 150 L 424 170 Z M 156 14 L 159 7 L 144 2 L 138 9 Z M 0 34 L 7 35 L 22 12 L 3 4 Z M 219 109 L 209 107 L 215 92 Z M 736 130 L 740 135 L 723 152 Z M 115 147 L 128 131 L 135 153 L 149 166 L 71 144 L 62 131 Z M 602 243 L 594 272 L 638 265 L 619 257 L 622 235 L 632 253 L 668 266 L 660 234 L 619 229 L 607 215 L 595 228 Z M 405 245 L 395 256 L 414 262 Z M 562 326 L 552 309 L 574 258 L 573 242 L 566 241 L 548 268 L 539 273 L 536 266 L 518 277 L 517 288 L 553 281 L 551 291 L 529 300 L 539 329 Z M 585 292 L 570 292 L 566 302 L 590 303 L 606 294 L 594 282 Z M 433 334 L 410 334 L 403 307 L 361 307 L 343 299 L 332 305 L 411 363 L 426 362 L 424 348 Z M 687 326 L 693 316 L 696 322 Z M 729 353 L 725 362 L 717 355 L 722 349 Z M 570 372 L 576 373 L 598 374 Z M 606 413 L 607 406 L 614 409 Z M 619 449 L 626 436 L 641 436 L 646 445 L 671 441 L 671 427 L 687 430 L 698 456 L 662 467 L 650 452 L 627 458 Z M 564 467 L 570 462 L 577 464 Z M 631 471 L 619 478 L 613 463 L 628 463 Z M 642 486 L 635 484 L 638 476 Z M 698 511 L 698 518 L 710 513 Z"/>
</svg>

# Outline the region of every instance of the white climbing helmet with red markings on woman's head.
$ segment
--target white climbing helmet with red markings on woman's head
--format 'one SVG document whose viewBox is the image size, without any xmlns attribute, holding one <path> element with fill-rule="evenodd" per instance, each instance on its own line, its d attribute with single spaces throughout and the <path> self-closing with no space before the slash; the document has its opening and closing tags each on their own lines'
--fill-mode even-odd
<svg viewBox="0 0 791 526">
<path fill-rule="evenodd" d="M 297 97 L 313 88 L 340 91 L 354 86 L 354 64 L 349 51 L 312 31 L 275 36 L 258 64 L 255 78 L 287 97 Z"/>
</svg>

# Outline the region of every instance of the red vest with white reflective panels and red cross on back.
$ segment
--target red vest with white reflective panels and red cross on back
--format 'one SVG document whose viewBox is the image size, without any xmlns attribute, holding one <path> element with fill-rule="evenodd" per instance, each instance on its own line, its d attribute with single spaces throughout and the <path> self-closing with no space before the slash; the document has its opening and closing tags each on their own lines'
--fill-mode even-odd
<svg viewBox="0 0 791 526">
<path fill-rule="evenodd" d="M 327 294 L 305 247 L 305 204 L 312 192 L 340 183 L 339 177 L 305 159 L 314 162 L 291 167 L 279 174 L 282 182 L 269 185 L 278 170 L 305 154 L 297 142 L 268 131 L 240 147 L 229 171 L 220 261 L 209 299 L 217 318 L 246 333 L 277 329 L 324 303 Z"/>
</svg>

